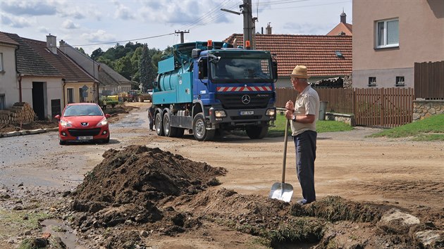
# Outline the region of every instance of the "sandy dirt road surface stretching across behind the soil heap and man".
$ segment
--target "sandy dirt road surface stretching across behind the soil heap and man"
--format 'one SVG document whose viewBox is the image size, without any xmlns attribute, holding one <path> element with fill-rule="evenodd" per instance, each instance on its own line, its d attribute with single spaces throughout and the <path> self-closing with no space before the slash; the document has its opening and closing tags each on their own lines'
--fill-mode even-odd
<svg viewBox="0 0 444 249">
<path fill-rule="evenodd" d="M 39 167 L 39 170 L 35 170 L 34 177 L 37 175 L 38 178 L 42 174 L 45 176 L 42 179 L 51 179 L 53 182 L 49 188 L 67 191 L 75 188 L 83 174 L 103 160 L 101 155 L 104 151 L 109 148 L 120 150 L 135 144 L 158 147 L 190 160 L 206 162 L 212 167 L 223 167 L 228 172 L 226 176 L 218 177 L 222 183 L 221 187 L 233 189 L 240 194 L 266 197 L 273 183 L 280 181 L 283 137 L 251 140 L 247 136 L 230 135 L 217 141 L 198 142 L 187 132 L 181 139 L 156 136 L 155 132 L 149 132 L 147 129 L 146 109 L 149 103 L 131 104 L 137 106 L 137 109 L 128 117 L 111 125 L 112 137 L 108 145 L 61 148 L 57 144 L 56 132 L 47 135 L 45 146 L 54 148 L 55 152 L 32 162 L 32 165 Z M 375 132 L 378 132 L 378 129 L 357 127 L 351 132 L 318 134 L 315 165 L 318 200 L 326 196 L 340 196 L 360 203 L 395 206 L 413 215 L 422 215 L 424 219 L 427 219 L 427 213 L 444 212 L 444 143 L 365 137 Z M 0 143 L 3 141 L 0 140 Z M 13 146 L 10 140 L 8 144 Z M 4 146 L 1 149 L 7 148 Z M 71 162 L 78 156 L 81 156 L 82 160 L 72 165 Z M 54 167 L 54 163 L 48 163 L 57 162 L 56 157 L 62 158 L 64 164 Z M 20 189 L 18 182 L 28 185 L 37 182 L 27 186 L 27 189 L 38 187 L 38 181 L 30 181 L 32 177 L 18 177 L 17 172 L 20 170 L 14 169 L 13 164 L 3 162 L 0 166 L 0 180 L 5 188 Z M 61 168 L 63 170 L 57 170 Z M 8 173 L 13 175 L 6 175 Z M 16 181 L 6 181 L 11 177 L 17 178 Z M 292 184 L 295 189 L 292 202 L 299 200 L 301 192 L 295 175 L 295 153 L 291 140 L 288 143 L 286 182 Z M 441 217 L 435 226 L 443 229 L 443 220 Z M 229 237 L 232 238 L 233 233 L 227 231 L 223 239 Z M 211 245 L 202 242 L 202 239 L 189 240 L 187 235 L 152 241 L 152 245 L 166 248 L 190 244 L 193 248 L 192 245 L 197 242 L 202 243 L 201 248 Z"/>
</svg>

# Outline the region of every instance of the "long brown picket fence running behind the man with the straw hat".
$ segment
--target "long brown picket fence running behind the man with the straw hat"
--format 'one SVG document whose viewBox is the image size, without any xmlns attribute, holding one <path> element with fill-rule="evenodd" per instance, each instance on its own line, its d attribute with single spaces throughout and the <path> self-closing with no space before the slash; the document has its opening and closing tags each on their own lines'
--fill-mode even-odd
<svg viewBox="0 0 444 249">
<path fill-rule="evenodd" d="M 412 122 L 412 88 L 316 89 L 326 112 L 354 114 L 359 126 L 397 127 Z M 295 100 L 294 89 L 276 89 L 276 107 Z"/>
</svg>

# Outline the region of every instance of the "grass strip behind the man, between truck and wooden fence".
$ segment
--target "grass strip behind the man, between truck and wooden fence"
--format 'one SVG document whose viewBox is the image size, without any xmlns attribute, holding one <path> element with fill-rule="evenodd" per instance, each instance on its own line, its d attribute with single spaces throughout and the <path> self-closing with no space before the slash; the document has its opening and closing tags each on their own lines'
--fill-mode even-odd
<svg viewBox="0 0 444 249">
<path fill-rule="evenodd" d="M 275 127 L 269 127 L 269 137 L 284 136 L 285 134 L 285 122 L 287 119 L 285 115 L 276 115 L 276 121 L 274 122 Z M 316 121 L 316 131 L 318 133 L 323 132 L 345 132 L 351 131 L 353 127 L 346 124 L 345 122 L 339 121 L 328 121 L 328 120 L 318 120 Z M 291 132 L 289 129 L 288 132 Z"/>
</svg>

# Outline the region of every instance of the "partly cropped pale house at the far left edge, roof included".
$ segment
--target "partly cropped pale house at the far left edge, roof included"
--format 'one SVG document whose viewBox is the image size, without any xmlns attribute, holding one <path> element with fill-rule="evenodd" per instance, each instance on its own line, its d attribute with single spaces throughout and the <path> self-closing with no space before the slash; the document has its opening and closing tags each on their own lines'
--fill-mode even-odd
<svg viewBox="0 0 444 249">
<path fill-rule="evenodd" d="M 18 42 L 0 32 L 0 110 L 13 106 L 20 98 L 16 88 L 16 50 Z"/>
</svg>

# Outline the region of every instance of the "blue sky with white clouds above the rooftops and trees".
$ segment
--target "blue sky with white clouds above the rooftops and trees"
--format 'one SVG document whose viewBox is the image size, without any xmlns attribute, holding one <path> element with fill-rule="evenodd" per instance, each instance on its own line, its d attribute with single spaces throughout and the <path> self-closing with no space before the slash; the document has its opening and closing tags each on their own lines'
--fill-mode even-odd
<svg viewBox="0 0 444 249">
<path fill-rule="evenodd" d="M 46 41 L 52 34 L 91 54 L 116 42 L 147 43 L 165 49 L 185 41 L 221 41 L 243 34 L 242 0 L 0 0 L 0 31 Z M 252 0 L 256 31 L 271 23 L 273 34 L 326 34 L 340 22 L 352 23 L 352 0 Z"/>
</svg>

